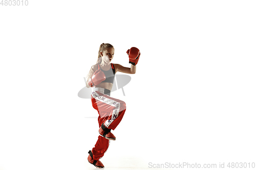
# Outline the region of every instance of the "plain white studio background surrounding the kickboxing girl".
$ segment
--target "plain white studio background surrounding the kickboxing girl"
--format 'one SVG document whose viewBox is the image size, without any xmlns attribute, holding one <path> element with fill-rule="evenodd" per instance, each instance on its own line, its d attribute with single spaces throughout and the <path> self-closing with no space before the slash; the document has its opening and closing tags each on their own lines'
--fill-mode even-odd
<svg viewBox="0 0 256 170">
<path fill-rule="evenodd" d="M 78 97 L 101 43 L 137 72 L 101 159 L 256 162 L 255 1 L 32 1 L 0 6 L 0 169 L 95 169 L 97 111 Z"/>
</svg>

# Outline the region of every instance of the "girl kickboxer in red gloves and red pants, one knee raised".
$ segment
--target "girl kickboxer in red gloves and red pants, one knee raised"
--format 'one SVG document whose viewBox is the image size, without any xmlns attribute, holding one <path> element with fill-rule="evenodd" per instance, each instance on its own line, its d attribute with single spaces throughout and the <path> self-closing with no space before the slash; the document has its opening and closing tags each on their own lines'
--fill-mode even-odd
<svg viewBox="0 0 256 170">
<path fill-rule="evenodd" d="M 136 47 L 127 50 L 131 68 L 120 64 L 110 63 L 114 57 L 114 47 L 109 43 L 102 43 L 99 48 L 98 60 L 93 65 L 87 76 L 86 86 L 95 87 L 91 95 L 93 108 L 99 113 L 99 137 L 92 151 L 89 151 L 88 161 L 97 168 L 104 168 L 99 161 L 109 147 L 109 140 L 116 140 L 111 130 L 120 123 L 126 109 L 123 101 L 110 97 L 115 74 L 117 71 L 126 74 L 135 74 L 136 64 L 140 57 L 140 51 Z"/>
</svg>

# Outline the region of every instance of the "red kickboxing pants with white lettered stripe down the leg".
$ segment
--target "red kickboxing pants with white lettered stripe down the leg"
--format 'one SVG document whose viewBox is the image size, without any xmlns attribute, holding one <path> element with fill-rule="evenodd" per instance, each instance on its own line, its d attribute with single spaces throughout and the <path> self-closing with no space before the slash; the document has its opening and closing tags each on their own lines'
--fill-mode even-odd
<svg viewBox="0 0 256 170">
<path fill-rule="evenodd" d="M 102 123 L 108 129 L 115 130 L 121 122 L 126 105 L 123 101 L 111 98 L 99 91 L 94 91 L 91 95 L 93 108 L 99 113 L 98 123 L 101 127 Z M 99 160 L 109 148 L 109 139 L 99 135 L 95 147 L 92 149 L 93 159 Z"/>
</svg>

